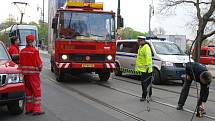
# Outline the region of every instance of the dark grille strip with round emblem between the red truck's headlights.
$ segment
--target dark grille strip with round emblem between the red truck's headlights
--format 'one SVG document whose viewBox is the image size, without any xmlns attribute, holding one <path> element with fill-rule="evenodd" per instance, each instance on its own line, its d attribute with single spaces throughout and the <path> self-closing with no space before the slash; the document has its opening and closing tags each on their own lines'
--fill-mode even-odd
<svg viewBox="0 0 215 121">
<path fill-rule="evenodd" d="M 107 55 L 85 55 L 85 54 L 74 54 L 70 55 L 70 61 L 106 61 Z"/>
</svg>

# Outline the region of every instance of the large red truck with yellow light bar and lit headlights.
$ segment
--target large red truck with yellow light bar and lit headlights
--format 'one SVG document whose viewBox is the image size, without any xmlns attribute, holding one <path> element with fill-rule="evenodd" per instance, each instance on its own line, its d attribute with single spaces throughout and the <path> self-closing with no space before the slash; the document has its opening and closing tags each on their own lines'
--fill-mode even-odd
<svg viewBox="0 0 215 121">
<path fill-rule="evenodd" d="M 51 71 L 56 80 L 63 81 L 65 73 L 95 72 L 107 81 L 115 68 L 115 13 L 104 11 L 103 3 L 77 0 L 66 2 L 55 14 L 49 9 Z"/>
</svg>

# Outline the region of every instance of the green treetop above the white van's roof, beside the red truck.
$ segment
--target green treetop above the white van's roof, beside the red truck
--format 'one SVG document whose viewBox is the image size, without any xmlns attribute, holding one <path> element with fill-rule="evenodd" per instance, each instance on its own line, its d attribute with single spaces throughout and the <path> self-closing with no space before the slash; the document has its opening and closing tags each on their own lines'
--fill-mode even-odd
<svg viewBox="0 0 215 121">
<path fill-rule="evenodd" d="M 138 36 L 146 36 L 147 33 L 142 33 L 139 31 L 135 31 L 130 27 L 123 28 L 119 30 L 119 34 L 122 39 L 137 39 Z"/>
</svg>

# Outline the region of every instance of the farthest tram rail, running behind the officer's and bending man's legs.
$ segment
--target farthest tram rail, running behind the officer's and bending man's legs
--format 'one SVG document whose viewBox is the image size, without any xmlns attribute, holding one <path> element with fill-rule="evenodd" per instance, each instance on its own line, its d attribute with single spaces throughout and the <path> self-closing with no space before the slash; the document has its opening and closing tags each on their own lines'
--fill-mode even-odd
<svg viewBox="0 0 215 121">
<path fill-rule="evenodd" d="M 124 78 L 124 77 L 122 77 L 122 78 Z M 138 82 L 133 82 L 133 81 L 129 81 L 129 80 L 122 79 L 122 78 L 113 77 L 113 79 L 118 80 L 118 81 L 128 82 L 128 83 L 135 84 L 135 85 L 141 85 L 141 84 L 138 83 Z M 179 94 L 179 95 L 180 95 L 180 92 L 173 91 L 173 90 L 169 90 L 169 89 L 164 89 L 164 88 L 158 87 L 158 86 L 156 86 L 156 85 L 153 85 L 152 88 L 158 89 L 158 90 L 162 90 L 162 91 L 166 91 L 166 92 L 171 92 L 171 93 L 175 93 L 175 94 Z M 190 88 L 196 89 L 195 87 L 192 87 L 192 86 L 191 86 Z M 200 89 L 199 89 L 199 90 L 200 90 Z M 210 92 L 215 92 L 215 91 L 211 91 L 211 90 L 209 90 L 209 91 L 210 91 Z M 196 96 L 191 95 L 191 94 L 189 94 L 188 96 L 193 97 L 193 98 L 197 98 Z M 214 102 L 214 103 L 215 103 L 215 100 L 208 99 L 208 101 L 209 101 L 209 102 Z"/>
</svg>

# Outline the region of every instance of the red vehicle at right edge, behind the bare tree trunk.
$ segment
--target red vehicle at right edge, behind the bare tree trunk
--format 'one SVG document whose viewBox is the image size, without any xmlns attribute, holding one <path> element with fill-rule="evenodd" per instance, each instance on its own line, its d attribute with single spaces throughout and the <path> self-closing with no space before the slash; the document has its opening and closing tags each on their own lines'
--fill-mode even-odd
<svg viewBox="0 0 215 121">
<path fill-rule="evenodd" d="M 215 46 L 202 47 L 199 62 L 202 64 L 215 64 Z"/>
</svg>

